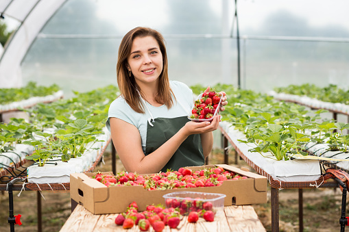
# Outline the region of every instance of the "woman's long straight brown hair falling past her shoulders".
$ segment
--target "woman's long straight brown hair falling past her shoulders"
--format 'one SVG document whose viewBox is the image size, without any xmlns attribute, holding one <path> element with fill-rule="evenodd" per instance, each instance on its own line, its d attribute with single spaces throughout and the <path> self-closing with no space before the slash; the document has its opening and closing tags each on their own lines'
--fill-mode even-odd
<svg viewBox="0 0 349 232">
<path fill-rule="evenodd" d="M 173 105 L 172 96 L 174 94 L 169 86 L 169 75 L 167 73 L 167 53 L 165 47 L 165 39 L 160 32 L 151 29 L 149 27 L 136 27 L 125 34 L 121 40 L 119 47 L 118 60 L 117 60 L 117 83 L 121 95 L 125 98 L 125 101 L 130 107 L 138 113 L 145 113 L 141 96 L 138 91 L 142 94 L 139 86 L 137 85 L 133 74 L 131 77 L 128 75 L 128 56 L 131 53 L 132 42 L 135 38 L 152 36 L 159 44 L 160 51 L 163 55 L 163 71 L 159 76 L 158 93 L 156 94 L 156 102 L 165 104 L 167 108 L 171 108 Z M 137 91 L 138 90 L 138 91 Z M 175 98 L 176 99 L 176 98 Z"/>
</svg>

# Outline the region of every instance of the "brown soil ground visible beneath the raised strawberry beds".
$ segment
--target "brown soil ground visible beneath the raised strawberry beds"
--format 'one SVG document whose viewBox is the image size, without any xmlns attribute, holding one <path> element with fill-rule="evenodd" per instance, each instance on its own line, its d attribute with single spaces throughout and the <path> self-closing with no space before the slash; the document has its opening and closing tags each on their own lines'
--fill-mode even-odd
<svg viewBox="0 0 349 232">
<path fill-rule="evenodd" d="M 109 151 L 110 149 L 108 149 Z M 106 151 L 104 161 L 95 170 L 111 171 L 111 155 Z M 223 150 L 215 149 L 210 154 L 208 164 L 224 164 Z M 248 164 L 238 158 L 235 164 L 234 151 L 229 153 L 229 164 L 249 168 Z M 249 168 L 251 171 L 252 168 Z M 117 172 L 123 166 L 117 159 Z M 269 188 L 269 187 L 268 187 Z M 22 225 L 15 226 L 15 231 L 38 231 L 37 194 L 39 192 L 14 192 L 14 214 L 21 214 Z M 60 231 L 64 222 L 71 214 L 71 199 L 69 192 L 42 192 L 42 228 L 43 231 Z M 265 204 L 253 205 L 259 219 L 267 231 L 271 227 L 270 191 Z M 340 231 L 339 218 L 341 216 L 341 191 L 332 188 L 303 190 L 303 224 L 304 231 L 331 232 Z M 348 215 L 348 211 L 346 213 Z M 298 190 L 279 191 L 280 231 L 299 231 L 298 228 Z M 8 224 L 8 192 L 0 192 L 0 231 L 10 231 Z"/>
</svg>

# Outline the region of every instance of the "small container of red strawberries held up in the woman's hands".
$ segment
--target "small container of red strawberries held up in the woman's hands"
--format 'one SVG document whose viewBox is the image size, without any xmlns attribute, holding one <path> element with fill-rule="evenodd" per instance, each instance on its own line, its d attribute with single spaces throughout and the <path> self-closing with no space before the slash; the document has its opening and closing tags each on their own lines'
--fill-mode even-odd
<svg viewBox="0 0 349 232">
<path fill-rule="evenodd" d="M 222 95 L 214 89 L 210 89 L 209 92 L 204 92 L 200 99 L 195 101 L 189 118 L 197 122 L 204 120 L 211 121 L 212 119 L 210 118 L 213 118 L 213 116 L 219 113 L 221 97 Z"/>
</svg>

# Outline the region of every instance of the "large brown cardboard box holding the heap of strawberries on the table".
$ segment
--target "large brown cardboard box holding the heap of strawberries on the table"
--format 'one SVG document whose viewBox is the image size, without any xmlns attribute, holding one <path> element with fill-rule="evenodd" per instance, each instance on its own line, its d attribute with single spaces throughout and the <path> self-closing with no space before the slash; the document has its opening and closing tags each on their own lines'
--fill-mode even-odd
<svg viewBox="0 0 349 232">
<path fill-rule="evenodd" d="M 201 188 L 180 188 L 174 190 L 145 190 L 143 186 L 112 186 L 91 179 L 96 173 L 71 174 L 71 198 L 84 205 L 93 214 L 116 214 L 126 211 L 132 201 L 136 201 L 139 211 L 144 211 L 147 205 L 165 205 L 163 195 L 170 192 L 212 192 L 226 194 L 224 205 L 250 205 L 267 203 L 267 178 L 261 175 L 234 168 L 226 164 L 194 166 L 195 170 L 221 166 L 226 170 L 250 177 L 237 181 L 224 181 L 220 186 Z M 112 174 L 112 172 L 104 172 Z"/>
</svg>

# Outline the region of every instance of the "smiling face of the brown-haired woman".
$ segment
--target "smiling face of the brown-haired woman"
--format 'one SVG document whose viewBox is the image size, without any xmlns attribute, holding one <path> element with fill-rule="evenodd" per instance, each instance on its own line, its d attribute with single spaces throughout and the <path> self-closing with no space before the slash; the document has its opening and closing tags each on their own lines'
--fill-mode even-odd
<svg viewBox="0 0 349 232">
<path fill-rule="evenodd" d="M 158 81 L 163 71 L 163 54 L 155 38 L 134 38 L 128 56 L 128 70 L 132 71 L 137 84 Z"/>
</svg>

